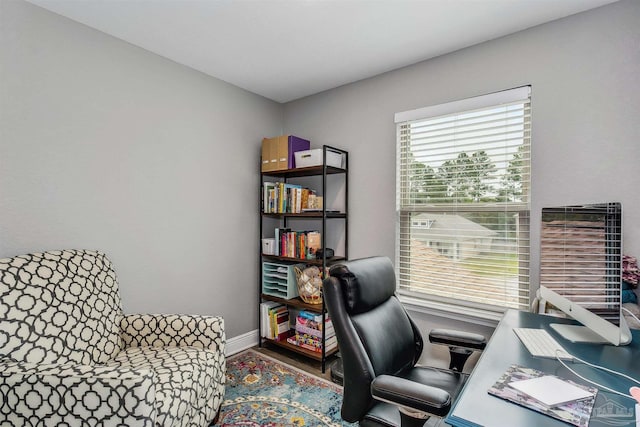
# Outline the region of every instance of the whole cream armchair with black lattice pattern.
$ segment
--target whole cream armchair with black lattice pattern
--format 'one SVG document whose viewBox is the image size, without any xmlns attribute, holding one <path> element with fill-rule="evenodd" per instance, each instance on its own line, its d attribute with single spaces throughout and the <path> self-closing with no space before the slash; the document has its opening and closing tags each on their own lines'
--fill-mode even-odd
<svg viewBox="0 0 640 427">
<path fill-rule="evenodd" d="M 208 426 L 224 345 L 221 317 L 124 315 L 100 252 L 0 260 L 0 425 Z"/>
</svg>

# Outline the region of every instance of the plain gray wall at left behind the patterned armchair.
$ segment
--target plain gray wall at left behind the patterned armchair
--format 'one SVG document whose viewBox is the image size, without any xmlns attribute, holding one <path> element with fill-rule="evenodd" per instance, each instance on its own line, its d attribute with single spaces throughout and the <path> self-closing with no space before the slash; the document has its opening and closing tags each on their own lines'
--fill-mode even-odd
<svg viewBox="0 0 640 427">
<path fill-rule="evenodd" d="M 126 312 L 257 327 L 259 144 L 282 106 L 0 1 L 0 257 L 107 253 Z"/>
</svg>

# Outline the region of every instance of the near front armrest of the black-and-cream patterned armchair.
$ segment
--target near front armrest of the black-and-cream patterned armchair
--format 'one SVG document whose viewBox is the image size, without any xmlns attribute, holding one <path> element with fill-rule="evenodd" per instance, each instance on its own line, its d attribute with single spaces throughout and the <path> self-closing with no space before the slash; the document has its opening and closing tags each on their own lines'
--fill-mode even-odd
<svg viewBox="0 0 640 427">
<path fill-rule="evenodd" d="M 0 420 L 9 425 L 154 427 L 155 399 L 150 370 L 0 361 Z"/>
</svg>

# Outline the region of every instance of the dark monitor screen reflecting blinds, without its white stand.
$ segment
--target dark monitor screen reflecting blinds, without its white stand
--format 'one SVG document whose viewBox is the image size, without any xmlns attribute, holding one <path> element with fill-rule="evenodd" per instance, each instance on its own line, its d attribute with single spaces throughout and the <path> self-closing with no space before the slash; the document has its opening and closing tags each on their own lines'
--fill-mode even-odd
<svg viewBox="0 0 640 427">
<path fill-rule="evenodd" d="M 622 206 L 544 208 L 540 284 L 617 323 L 622 280 Z"/>
</svg>

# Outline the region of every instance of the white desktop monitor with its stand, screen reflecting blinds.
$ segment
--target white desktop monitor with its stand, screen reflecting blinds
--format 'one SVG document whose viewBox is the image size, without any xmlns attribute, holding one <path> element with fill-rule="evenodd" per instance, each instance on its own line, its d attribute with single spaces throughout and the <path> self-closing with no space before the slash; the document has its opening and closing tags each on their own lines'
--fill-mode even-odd
<svg viewBox="0 0 640 427">
<path fill-rule="evenodd" d="M 552 324 L 573 342 L 625 345 L 622 314 L 622 205 L 542 209 L 539 296 L 582 326 Z"/>
</svg>

